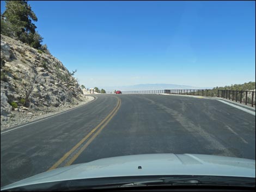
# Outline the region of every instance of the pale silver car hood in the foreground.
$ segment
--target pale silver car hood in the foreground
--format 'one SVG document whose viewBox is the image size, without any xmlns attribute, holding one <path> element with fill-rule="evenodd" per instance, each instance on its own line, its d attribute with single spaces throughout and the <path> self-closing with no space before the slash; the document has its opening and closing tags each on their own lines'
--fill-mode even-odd
<svg viewBox="0 0 256 192">
<path fill-rule="evenodd" d="M 141 166 L 142 169 L 138 169 Z M 255 160 L 205 154 L 137 154 L 103 158 L 89 163 L 70 165 L 43 172 L 3 189 L 70 179 L 156 176 L 205 175 L 255 178 Z"/>
</svg>

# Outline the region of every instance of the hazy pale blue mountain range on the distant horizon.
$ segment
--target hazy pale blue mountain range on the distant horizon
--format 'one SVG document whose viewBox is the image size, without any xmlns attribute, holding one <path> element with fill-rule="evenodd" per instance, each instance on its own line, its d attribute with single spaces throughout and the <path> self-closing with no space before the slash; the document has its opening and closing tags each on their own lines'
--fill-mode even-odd
<svg viewBox="0 0 256 192">
<path fill-rule="evenodd" d="M 190 85 L 176 85 L 176 84 L 138 84 L 129 86 L 105 86 L 106 91 L 121 90 L 121 91 L 139 91 L 139 90 L 164 90 L 164 89 L 212 89 L 200 88 Z"/>
</svg>

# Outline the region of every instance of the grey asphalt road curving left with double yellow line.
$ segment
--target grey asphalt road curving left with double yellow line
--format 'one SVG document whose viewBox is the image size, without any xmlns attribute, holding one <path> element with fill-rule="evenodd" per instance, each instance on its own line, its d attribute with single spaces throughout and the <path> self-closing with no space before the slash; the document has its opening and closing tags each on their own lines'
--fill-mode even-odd
<svg viewBox="0 0 256 192">
<path fill-rule="evenodd" d="M 255 159 L 255 116 L 204 98 L 97 95 L 83 107 L 1 133 L 1 187 L 60 166 L 145 153 Z"/>
</svg>

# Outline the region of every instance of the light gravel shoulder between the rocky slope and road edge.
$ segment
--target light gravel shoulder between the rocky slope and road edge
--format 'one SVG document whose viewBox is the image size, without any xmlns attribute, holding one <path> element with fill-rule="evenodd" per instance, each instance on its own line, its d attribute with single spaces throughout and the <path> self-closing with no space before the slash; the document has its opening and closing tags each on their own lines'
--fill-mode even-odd
<svg viewBox="0 0 256 192">
<path fill-rule="evenodd" d="M 94 99 L 95 97 L 93 96 L 84 96 L 84 101 L 66 104 L 59 107 L 44 107 L 39 108 L 37 111 L 29 108 L 14 110 L 7 120 L 1 119 L 1 131 L 13 128 L 14 126 L 23 125 L 27 122 L 44 119 L 45 117 L 56 115 L 72 108 L 80 107 L 83 104 L 93 101 Z"/>
</svg>

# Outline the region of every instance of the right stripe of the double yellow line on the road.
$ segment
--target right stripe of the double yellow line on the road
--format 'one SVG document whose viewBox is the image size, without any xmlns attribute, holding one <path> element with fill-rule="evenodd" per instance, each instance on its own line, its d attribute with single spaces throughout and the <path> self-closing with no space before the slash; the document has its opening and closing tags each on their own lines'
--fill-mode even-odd
<svg viewBox="0 0 256 192">
<path fill-rule="evenodd" d="M 119 98 L 118 98 L 119 99 Z M 119 99 L 120 100 L 120 99 Z M 115 110 L 115 112 L 111 115 L 111 117 L 109 117 L 109 119 L 104 123 L 104 125 L 102 125 L 102 127 L 93 135 L 92 138 L 90 138 L 86 144 L 84 144 L 84 146 L 69 160 L 68 163 L 65 164 L 65 166 L 69 166 L 71 165 L 78 156 L 80 156 L 80 154 L 88 147 L 88 145 L 90 143 L 92 143 L 92 141 L 97 137 L 97 135 L 102 131 L 102 129 L 107 125 L 107 123 L 113 118 L 113 116 L 118 112 L 119 108 L 121 106 L 121 100 L 119 102 L 119 106 L 117 108 L 117 110 Z"/>
</svg>

